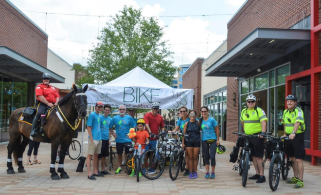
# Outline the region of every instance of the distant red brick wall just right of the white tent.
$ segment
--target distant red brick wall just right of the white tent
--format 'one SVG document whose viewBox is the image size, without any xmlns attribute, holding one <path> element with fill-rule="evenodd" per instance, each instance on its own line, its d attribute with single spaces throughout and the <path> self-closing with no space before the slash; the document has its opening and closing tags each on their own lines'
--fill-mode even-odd
<svg viewBox="0 0 321 195">
<path fill-rule="evenodd" d="M 201 108 L 201 88 L 202 88 L 202 63 L 204 59 L 196 59 L 193 65 L 183 75 L 183 88 L 194 89 L 194 110 L 199 115 Z"/>
</svg>

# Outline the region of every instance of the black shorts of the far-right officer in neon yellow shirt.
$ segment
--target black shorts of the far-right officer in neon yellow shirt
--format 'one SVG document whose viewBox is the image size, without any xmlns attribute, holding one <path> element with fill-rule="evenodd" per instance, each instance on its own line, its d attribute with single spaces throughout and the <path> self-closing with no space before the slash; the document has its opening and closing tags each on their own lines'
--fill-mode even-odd
<svg viewBox="0 0 321 195">
<path fill-rule="evenodd" d="M 304 158 L 304 133 L 296 134 L 294 139 L 285 140 L 285 152 L 287 156 L 295 158 Z"/>
</svg>

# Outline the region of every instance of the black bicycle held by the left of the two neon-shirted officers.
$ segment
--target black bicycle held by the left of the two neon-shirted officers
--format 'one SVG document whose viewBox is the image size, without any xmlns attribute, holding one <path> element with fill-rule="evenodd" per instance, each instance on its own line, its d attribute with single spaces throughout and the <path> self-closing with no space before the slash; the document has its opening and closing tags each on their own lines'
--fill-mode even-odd
<svg viewBox="0 0 321 195">
<path fill-rule="evenodd" d="M 249 137 L 258 137 L 257 135 L 246 135 L 244 133 L 236 133 L 233 132 L 232 134 L 238 135 L 238 136 L 243 136 L 245 137 L 244 140 L 244 146 L 241 150 L 241 154 L 238 159 L 238 164 L 239 165 L 234 165 L 234 170 L 238 170 L 239 174 L 242 175 L 242 185 L 243 187 L 246 186 L 246 183 L 248 181 L 248 172 L 250 170 L 250 154 L 251 154 L 251 149 L 249 147 Z"/>
</svg>

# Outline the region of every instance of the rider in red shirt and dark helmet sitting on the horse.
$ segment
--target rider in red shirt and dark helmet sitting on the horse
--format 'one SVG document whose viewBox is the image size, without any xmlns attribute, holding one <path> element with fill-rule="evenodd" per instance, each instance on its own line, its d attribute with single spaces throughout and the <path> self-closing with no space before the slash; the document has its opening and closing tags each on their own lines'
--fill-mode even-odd
<svg viewBox="0 0 321 195">
<path fill-rule="evenodd" d="M 57 103 L 59 101 L 59 94 L 55 90 L 54 86 L 49 85 L 51 81 L 51 76 L 49 73 L 44 73 L 41 76 L 42 83 L 36 86 L 36 116 L 34 118 L 34 121 L 32 122 L 32 128 L 31 128 L 31 137 L 38 137 L 38 134 L 36 132 L 36 127 L 38 124 L 38 120 L 40 118 L 40 115 L 43 114 L 47 107 L 53 107 L 57 106 Z"/>
</svg>

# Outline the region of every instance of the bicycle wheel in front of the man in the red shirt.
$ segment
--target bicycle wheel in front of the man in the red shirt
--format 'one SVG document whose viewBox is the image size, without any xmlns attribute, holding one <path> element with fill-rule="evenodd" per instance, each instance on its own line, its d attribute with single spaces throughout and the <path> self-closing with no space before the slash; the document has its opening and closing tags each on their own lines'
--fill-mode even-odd
<svg viewBox="0 0 321 195">
<path fill-rule="evenodd" d="M 155 149 L 146 150 L 143 155 L 142 159 L 145 156 L 150 155 L 150 160 L 147 160 L 148 166 L 145 167 L 146 171 L 142 170 L 142 175 L 147 179 L 154 180 L 157 179 L 163 174 L 165 168 L 165 162 L 163 156 L 158 152 L 155 153 Z M 157 169 L 159 168 L 159 170 Z M 143 169 L 143 168 L 142 168 Z"/>
</svg>

